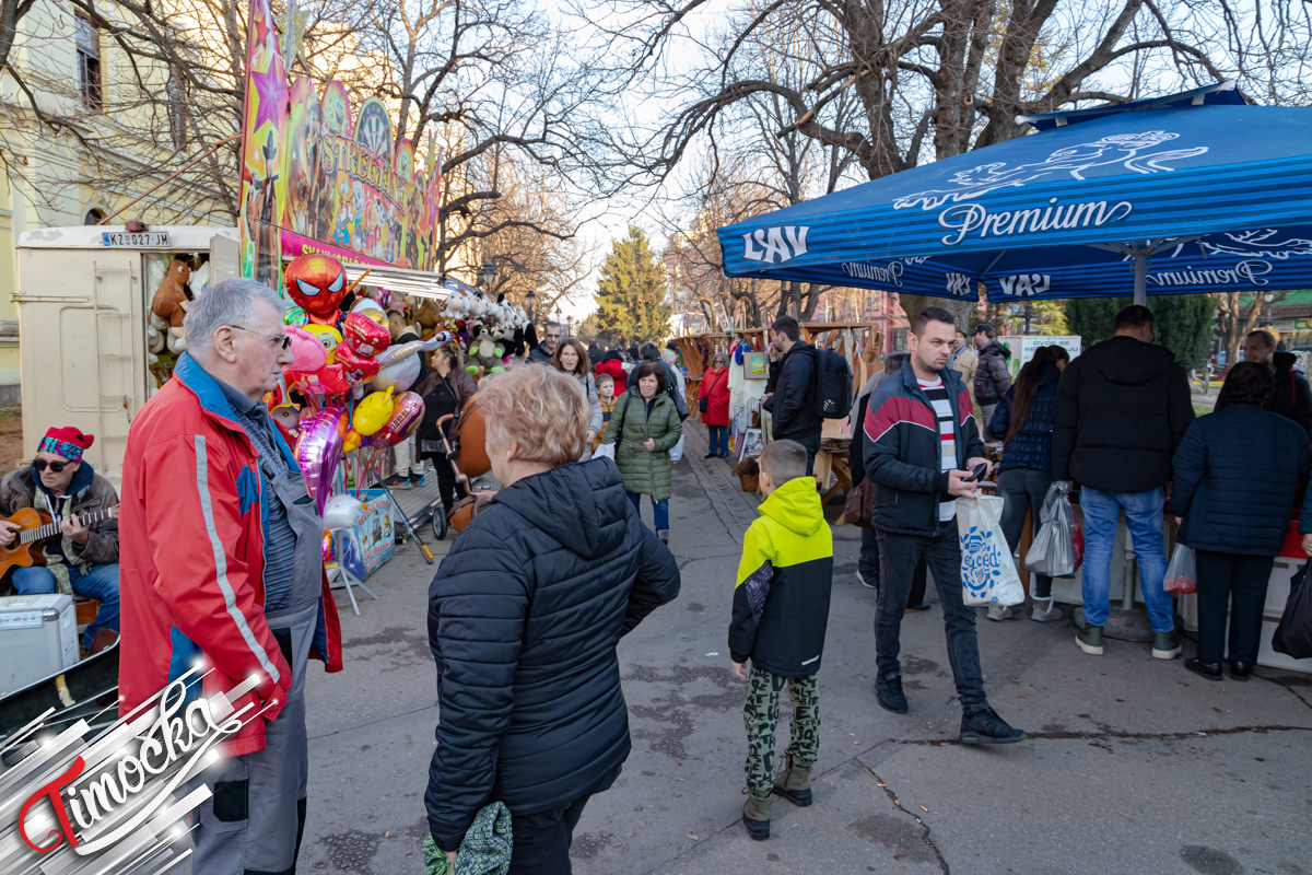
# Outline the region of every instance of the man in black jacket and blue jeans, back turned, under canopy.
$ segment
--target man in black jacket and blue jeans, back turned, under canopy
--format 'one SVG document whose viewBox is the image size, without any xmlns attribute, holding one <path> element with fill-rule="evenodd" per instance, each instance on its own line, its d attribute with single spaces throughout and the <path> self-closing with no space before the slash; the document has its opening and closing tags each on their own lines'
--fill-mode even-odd
<svg viewBox="0 0 1312 875">
<path fill-rule="evenodd" d="M 1120 512 L 1139 556 L 1139 584 L 1152 621 L 1152 655 L 1179 655 L 1166 576 L 1162 509 L 1170 457 L 1194 421 L 1189 382 L 1176 358 L 1152 342 L 1147 307 L 1126 307 L 1114 337 L 1096 344 L 1061 374 L 1052 408 L 1052 479 L 1080 484 L 1084 509 L 1084 615 L 1076 643 L 1102 655 L 1111 588 L 1111 551 Z"/>
</svg>

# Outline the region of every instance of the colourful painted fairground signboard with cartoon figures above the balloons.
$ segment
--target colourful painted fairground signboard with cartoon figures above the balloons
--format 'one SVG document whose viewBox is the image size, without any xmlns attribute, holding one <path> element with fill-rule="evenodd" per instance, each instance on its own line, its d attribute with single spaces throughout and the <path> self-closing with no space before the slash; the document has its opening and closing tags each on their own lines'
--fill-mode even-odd
<svg viewBox="0 0 1312 875">
<path fill-rule="evenodd" d="M 441 159 L 395 136 L 387 105 L 345 85 L 289 84 L 269 0 L 252 0 L 243 144 L 243 275 L 279 286 L 283 257 L 432 270 Z"/>
</svg>

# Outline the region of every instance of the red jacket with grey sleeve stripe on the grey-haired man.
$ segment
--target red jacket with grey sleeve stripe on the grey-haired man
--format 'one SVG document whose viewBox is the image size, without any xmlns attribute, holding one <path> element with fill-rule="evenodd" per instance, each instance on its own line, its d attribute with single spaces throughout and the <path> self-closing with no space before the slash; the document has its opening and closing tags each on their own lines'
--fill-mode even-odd
<svg viewBox="0 0 1312 875">
<path fill-rule="evenodd" d="M 278 441 L 291 464 L 295 457 Z M 265 720 L 282 710 L 291 672 L 264 615 L 264 502 L 269 484 L 223 390 L 184 354 L 173 379 L 146 403 L 127 433 L 119 518 L 119 714 L 154 698 L 203 653 L 205 694 L 253 673 L 269 702 L 224 744 L 264 749 Z M 341 670 L 337 609 L 323 585 L 314 651 Z"/>
</svg>

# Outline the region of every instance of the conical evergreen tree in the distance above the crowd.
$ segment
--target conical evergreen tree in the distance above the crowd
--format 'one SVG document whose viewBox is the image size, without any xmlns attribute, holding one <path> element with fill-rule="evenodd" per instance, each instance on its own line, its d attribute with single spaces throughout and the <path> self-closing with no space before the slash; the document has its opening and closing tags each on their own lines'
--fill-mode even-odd
<svg viewBox="0 0 1312 875">
<path fill-rule="evenodd" d="M 663 341 L 673 308 L 665 303 L 665 274 L 638 226 L 611 244 L 597 281 L 600 335 L 607 342 Z"/>
</svg>

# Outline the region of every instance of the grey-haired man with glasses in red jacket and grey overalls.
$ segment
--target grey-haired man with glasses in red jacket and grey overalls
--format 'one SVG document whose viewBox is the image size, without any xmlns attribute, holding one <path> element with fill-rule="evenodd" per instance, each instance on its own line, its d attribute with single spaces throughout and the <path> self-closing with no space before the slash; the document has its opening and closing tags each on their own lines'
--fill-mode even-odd
<svg viewBox="0 0 1312 875">
<path fill-rule="evenodd" d="M 291 362 L 283 302 L 227 279 L 186 315 L 188 352 L 123 459 L 121 712 L 201 662 L 205 695 L 257 678 L 228 758 L 205 773 L 193 868 L 294 871 L 306 813 L 304 674 L 341 668 L 323 527 L 261 400 Z M 190 690 L 194 695 L 194 687 Z M 251 716 L 255 715 L 255 716 Z"/>
</svg>

